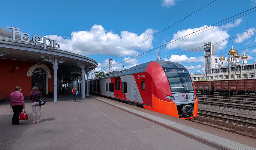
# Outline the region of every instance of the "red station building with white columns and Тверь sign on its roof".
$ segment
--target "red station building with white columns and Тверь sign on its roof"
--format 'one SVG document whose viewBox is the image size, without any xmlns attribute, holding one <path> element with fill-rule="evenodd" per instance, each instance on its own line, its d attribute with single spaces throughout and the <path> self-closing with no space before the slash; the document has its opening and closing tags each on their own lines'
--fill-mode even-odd
<svg viewBox="0 0 256 150">
<path fill-rule="evenodd" d="M 76 86 L 85 98 L 85 74 L 97 67 L 88 57 L 60 50 L 50 38 L 29 35 L 19 28 L 0 27 L 0 98 L 9 100 L 16 86 L 28 99 L 32 87 L 39 87 L 43 97 L 58 101 L 60 86 Z M 88 89 L 88 84 L 86 85 Z M 71 93 L 71 91 L 70 91 Z M 88 92 L 87 92 L 88 96 Z"/>
</svg>

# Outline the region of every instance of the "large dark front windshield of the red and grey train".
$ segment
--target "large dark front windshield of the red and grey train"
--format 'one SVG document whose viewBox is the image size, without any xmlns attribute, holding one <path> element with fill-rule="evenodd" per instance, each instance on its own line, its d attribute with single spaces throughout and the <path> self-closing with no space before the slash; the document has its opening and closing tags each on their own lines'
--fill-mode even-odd
<svg viewBox="0 0 256 150">
<path fill-rule="evenodd" d="M 168 78 L 172 92 L 189 92 L 193 91 L 193 84 L 186 69 L 163 68 Z"/>
</svg>

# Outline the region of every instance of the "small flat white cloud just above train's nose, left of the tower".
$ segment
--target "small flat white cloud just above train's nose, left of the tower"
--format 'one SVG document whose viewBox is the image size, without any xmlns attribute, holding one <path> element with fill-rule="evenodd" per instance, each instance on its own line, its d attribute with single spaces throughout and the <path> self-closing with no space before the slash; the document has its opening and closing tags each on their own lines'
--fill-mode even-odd
<svg viewBox="0 0 256 150">
<path fill-rule="evenodd" d="M 181 63 L 181 62 L 204 62 L 204 57 L 187 57 L 186 55 L 171 55 L 170 59 L 163 59 L 163 60 L 167 60 L 167 61 L 171 61 L 171 62 L 177 62 L 177 63 Z"/>
</svg>

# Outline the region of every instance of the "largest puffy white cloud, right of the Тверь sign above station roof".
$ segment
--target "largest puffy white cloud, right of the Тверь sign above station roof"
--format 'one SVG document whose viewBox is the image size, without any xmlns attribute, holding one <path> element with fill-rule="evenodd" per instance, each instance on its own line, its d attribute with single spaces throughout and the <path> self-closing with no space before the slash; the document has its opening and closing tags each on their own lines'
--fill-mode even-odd
<svg viewBox="0 0 256 150">
<path fill-rule="evenodd" d="M 64 39 L 57 35 L 47 35 L 45 37 L 56 40 L 62 50 L 72 53 L 89 55 L 89 54 L 108 54 L 117 55 L 131 47 L 141 43 L 153 35 L 153 29 L 147 29 L 141 35 L 122 31 L 121 35 L 114 32 L 107 32 L 102 25 L 93 25 L 90 31 L 73 31 L 71 38 Z M 139 44 L 137 47 L 130 49 L 121 54 L 121 56 L 134 56 L 136 48 L 138 50 L 152 49 L 153 38 Z"/>
</svg>

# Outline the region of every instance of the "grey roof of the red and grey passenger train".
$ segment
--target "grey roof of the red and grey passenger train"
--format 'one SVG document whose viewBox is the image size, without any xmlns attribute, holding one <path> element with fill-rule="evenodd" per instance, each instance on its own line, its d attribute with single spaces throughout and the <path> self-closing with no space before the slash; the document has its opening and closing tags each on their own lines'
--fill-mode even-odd
<svg viewBox="0 0 256 150">
<path fill-rule="evenodd" d="M 151 61 L 152 62 L 152 61 Z M 146 62 L 146 63 L 142 63 L 140 65 L 136 65 L 133 66 L 129 69 L 127 69 L 126 72 L 122 72 L 119 74 L 110 74 L 108 73 L 108 75 L 103 75 L 101 78 L 99 79 L 105 79 L 105 78 L 109 78 L 109 76 L 111 76 L 111 78 L 117 77 L 117 76 L 122 76 L 122 75 L 129 75 L 129 74 L 137 74 L 140 72 L 145 72 L 145 70 L 147 69 L 147 66 L 151 63 L 151 62 Z M 185 68 L 183 65 L 179 64 L 179 63 L 175 63 L 175 62 L 170 62 L 170 61 L 164 61 L 164 60 L 157 60 L 157 61 L 153 61 L 153 62 L 157 62 L 159 63 L 160 66 L 162 66 L 163 68 Z M 115 72 L 116 73 L 116 72 Z"/>
</svg>

